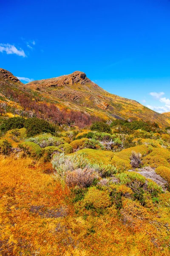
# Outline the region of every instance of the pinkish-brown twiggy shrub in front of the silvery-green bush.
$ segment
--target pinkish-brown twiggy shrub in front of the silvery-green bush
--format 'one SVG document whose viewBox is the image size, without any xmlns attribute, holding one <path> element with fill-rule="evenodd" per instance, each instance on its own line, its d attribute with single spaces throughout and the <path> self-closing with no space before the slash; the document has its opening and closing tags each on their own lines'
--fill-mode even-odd
<svg viewBox="0 0 170 256">
<path fill-rule="evenodd" d="M 94 179 L 98 179 L 99 175 L 92 168 L 77 169 L 73 172 L 67 172 L 66 183 L 70 187 L 79 186 L 80 188 L 89 187 Z"/>
</svg>

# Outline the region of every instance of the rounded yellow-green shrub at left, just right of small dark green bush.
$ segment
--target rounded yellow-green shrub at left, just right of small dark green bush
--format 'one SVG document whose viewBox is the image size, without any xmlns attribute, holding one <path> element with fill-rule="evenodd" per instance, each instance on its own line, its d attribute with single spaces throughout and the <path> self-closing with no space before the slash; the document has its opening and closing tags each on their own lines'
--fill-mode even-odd
<svg viewBox="0 0 170 256">
<path fill-rule="evenodd" d="M 42 149 L 34 142 L 26 141 L 18 146 L 19 148 L 23 149 L 23 151 L 30 157 L 39 158 L 42 155 Z"/>
</svg>

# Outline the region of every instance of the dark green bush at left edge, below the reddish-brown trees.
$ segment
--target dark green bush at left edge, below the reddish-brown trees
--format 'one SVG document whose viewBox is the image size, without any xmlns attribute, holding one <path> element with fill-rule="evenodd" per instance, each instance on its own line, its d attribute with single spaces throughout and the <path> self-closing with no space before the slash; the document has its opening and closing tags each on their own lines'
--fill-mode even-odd
<svg viewBox="0 0 170 256">
<path fill-rule="evenodd" d="M 3 121 L 0 125 L 0 130 L 6 132 L 12 129 L 23 128 L 25 124 L 25 119 L 23 117 L 11 117 Z"/>
</svg>

